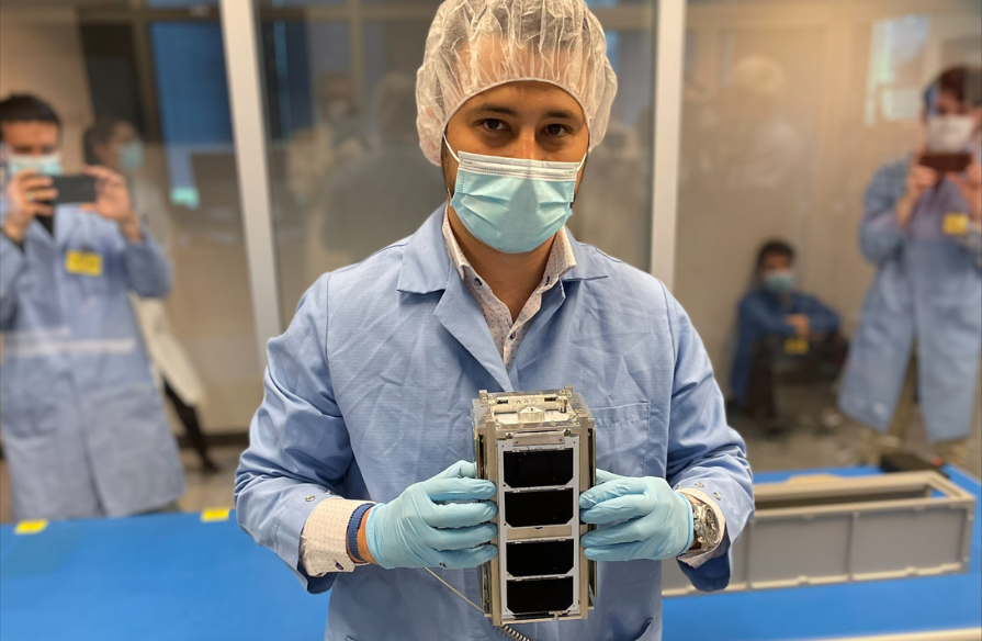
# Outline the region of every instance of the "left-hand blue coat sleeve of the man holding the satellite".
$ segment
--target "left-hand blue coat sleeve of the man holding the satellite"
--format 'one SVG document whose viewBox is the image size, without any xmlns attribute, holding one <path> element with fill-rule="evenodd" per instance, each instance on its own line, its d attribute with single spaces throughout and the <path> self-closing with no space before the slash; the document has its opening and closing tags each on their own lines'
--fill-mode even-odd
<svg viewBox="0 0 982 641">
<path fill-rule="evenodd" d="M 307 290 L 286 333 L 269 342 L 266 392 L 235 483 L 239 525 L 312 593 L 329 589 L 336 574 L 304 571 L 301 533 L 321 501 L 342 496 L 353 460 L 327 362 L 329 277 Z"/>
</svg>

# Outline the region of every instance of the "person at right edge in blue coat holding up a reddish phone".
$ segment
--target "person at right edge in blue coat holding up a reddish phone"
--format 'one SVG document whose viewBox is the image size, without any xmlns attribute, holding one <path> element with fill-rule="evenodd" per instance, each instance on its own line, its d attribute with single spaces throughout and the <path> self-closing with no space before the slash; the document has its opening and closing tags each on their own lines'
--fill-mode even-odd
<svg viewBox="0 0 982 641">
<path fill-rule="evenodd" d="M 903 448 L 916 404 L 935 453 L 963 465 L 982 348 L 982 69 L 952 67 L 924 92 L 926 144 L 866 191 L 859 247 L 877 268 L 839 394 L 867 426 L 866 458 Z M 928 151 L 967 151 L 938 171 Z"/>
</svg>

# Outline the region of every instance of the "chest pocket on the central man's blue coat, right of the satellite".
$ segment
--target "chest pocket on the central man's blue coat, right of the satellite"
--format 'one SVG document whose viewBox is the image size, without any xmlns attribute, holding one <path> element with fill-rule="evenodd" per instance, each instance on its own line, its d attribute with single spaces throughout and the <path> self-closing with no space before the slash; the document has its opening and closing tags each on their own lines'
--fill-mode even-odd
<svg viewBox="0 0 982 641">
<path fill-rule="evenodd" d="M 597 466 L 624 476 L 643 476 L 650 450 L 651 404 L 590 411 L 597 428 Z"/>
</svg>

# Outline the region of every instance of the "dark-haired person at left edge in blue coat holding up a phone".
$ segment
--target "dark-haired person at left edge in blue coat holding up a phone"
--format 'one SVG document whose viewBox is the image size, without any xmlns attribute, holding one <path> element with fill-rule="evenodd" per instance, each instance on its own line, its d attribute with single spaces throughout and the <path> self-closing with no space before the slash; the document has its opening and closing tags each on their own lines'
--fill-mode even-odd
<svg viewBox="0 0 982 641">
<path fill-rule="evenodd" d="M 95 202 L 52 204 L 61 124 L 27 94 L 0 102 L 0 429 L 19 519 L 167 508 L 184 490 L 128 292 L 163 296 L 170 265 L 125 179 L 88 167 Z"/>
</svg>

